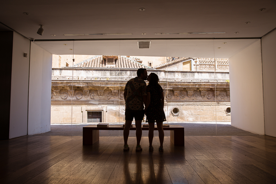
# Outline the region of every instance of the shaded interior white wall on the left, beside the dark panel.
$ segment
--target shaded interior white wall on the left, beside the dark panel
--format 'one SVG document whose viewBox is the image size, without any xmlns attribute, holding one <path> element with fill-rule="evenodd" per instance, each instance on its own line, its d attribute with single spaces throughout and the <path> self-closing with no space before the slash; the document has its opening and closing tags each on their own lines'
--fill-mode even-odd
<svg viewBox="0 0 276 184">
<path fill-rule="evenodd" d="M 27 58 L 24 53 L 28 54 Z M 30 40 L 13 33 L 10 139 L 27 135 L 29 57 Z"/>
</svg>

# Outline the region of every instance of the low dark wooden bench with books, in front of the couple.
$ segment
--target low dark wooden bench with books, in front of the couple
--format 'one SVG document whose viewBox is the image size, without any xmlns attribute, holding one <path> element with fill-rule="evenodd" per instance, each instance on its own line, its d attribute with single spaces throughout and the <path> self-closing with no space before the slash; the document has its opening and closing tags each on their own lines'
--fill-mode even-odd
<svg viewBox="0 0 276 184">
<path fill-rule="evenodd" d="M 109 125 L 109 127 L 97 127 L 97 125 L 87 125 L 82 127 L 82 144 L 92 145 L 100 138 L 100 130 L 124 130 L 122 125 Z M 171 131 L 171 142 L 175 146 L 184 146 L 184 127 L 181 125 L 170 125 L 170 127 L 163 127 L 164 130 Z M 130 127 L 130 130 L 136 130 L 135 125 Z M 142 130 L 148 130 L 148 127 L 143 127 Z M 155 125 L 154 130 L 157 130 Z"/>
</svg>

